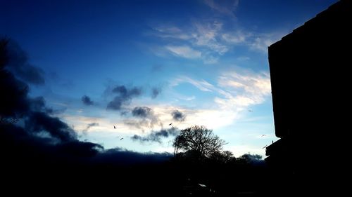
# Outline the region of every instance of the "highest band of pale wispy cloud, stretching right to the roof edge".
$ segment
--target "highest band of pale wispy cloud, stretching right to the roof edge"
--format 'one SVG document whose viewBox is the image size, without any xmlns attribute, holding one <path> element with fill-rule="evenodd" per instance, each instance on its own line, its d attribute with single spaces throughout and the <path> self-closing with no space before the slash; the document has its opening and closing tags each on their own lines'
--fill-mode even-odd
<svg viewBox="0 0 352 197">
<path fill-rule="evenodd" d="M 236 26 L 225 29 L 222 20 L 191 22 L 188 29 L 171 26 L 158 29 L 158 36 L 166 43 L 164 50 L 177 57 L 201 59 L 205 64 L 217 63 L 222 55 L 238 46 L 245 46 L 259 53 L 268 53 L 268 46 L 278 41 L 288 31 L 252 32 Z M 178 44 L 177 44 L 178 43 Z M 163 48 L 153 48 L 153 53 L 165 56 Z"/>
</svg>

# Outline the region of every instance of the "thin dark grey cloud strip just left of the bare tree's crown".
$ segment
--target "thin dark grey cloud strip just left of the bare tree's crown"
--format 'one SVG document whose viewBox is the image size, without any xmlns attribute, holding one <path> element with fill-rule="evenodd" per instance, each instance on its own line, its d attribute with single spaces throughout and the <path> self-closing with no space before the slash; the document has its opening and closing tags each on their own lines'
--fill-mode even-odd
<svg viewBox="0 0 352 197">
<path fill-rule="evenodd" d="M 180 131 L 175 128 L 169 128 L 169 129 L 162 129 L 158 131 L 152 131 L 149 133 L 149 135 L 146 135 L 144 137 L 140 135 L 133 135 L 131 137 L 132 140 L 140 141 L 140 142 L 158 142 L 161 143 L 161 138 L 164 137 L 169 137 L 169 136 L 176 136 L 180 133 Z"/>
</svg>

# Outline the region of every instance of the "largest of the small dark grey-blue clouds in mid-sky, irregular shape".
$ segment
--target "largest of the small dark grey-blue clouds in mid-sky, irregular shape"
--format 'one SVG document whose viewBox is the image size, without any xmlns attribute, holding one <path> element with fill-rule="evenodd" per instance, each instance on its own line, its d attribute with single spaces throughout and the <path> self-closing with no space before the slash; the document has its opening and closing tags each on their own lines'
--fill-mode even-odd
<svg viewBox="0 0 352 197">
<path fill-rule="evenodd" d="M 123 105 L 130 104 L 133 97 L 142 95 L 142 88 L 133 87 L 127 89 L 125 86 L 116 86 L 111 90 L 111 93 L 117 95 L 108 103 L 106 109 L 119 111 L 122 109 Z"/>
</svg>

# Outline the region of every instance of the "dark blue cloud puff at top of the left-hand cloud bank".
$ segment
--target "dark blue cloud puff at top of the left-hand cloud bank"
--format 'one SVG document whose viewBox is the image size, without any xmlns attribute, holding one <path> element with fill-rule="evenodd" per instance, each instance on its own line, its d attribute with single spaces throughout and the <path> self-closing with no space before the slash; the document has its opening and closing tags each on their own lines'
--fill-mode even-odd
<svg viewBox="0 0 352 197">
<path fill-rule="evenodd" d="M 7 69 L 19 79 L 35 85 L 44 84 L 44 72 L 28 62 L 25 51 L 15 41 L 9 40 L 6 55 L 8 57 Z"/>
</svg>

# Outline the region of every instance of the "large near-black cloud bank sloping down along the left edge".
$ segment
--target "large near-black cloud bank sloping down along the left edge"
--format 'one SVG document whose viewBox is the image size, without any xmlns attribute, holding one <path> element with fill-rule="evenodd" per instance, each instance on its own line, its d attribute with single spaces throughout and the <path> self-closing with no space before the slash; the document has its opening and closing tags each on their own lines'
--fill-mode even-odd
<svg viewBox="0 0 352 197">
<path fill-rule="evenodd" d="M 13 73 L 8 72 L 8 67 L 22 67 L 20 63 L 14 65 L 13 61 L 25 57 L 22 57 L 23 52 L 13 53 L 13 49 L 11 47 L 8 48 L 8 44 L 11 42 L 5 44 L 4 40 L 0 42 L 0 52 L 3 53 L 0 55 L 3 58 L 3 60 L 0 60 L 0 91 L 6 93 L 0 97 L 1 123 L 8 123 L 7 120 L 22 120 L 27 133 L 33 135 L 46 133 L 50 137 L 53 137 L 54 140 L 60 142 L 76 140 L 77 136 L 72 128 L 59 118 L 50 116 L 53 110 L 45 106 L 44 98 L 28 97 L 28 85 L 17 79 Z M 27 61 L 27 59 L 25 60 Z M 20 62 L 23 61 L 21 60 Z M 11 63 L 13 65 L 9 66 Z M 27 64 L 27 62 L 25 63 Z M 14 72 L 14 74 L 16 76 L 20 75 L 18 72 Z"/>
</svg>

